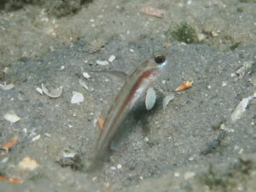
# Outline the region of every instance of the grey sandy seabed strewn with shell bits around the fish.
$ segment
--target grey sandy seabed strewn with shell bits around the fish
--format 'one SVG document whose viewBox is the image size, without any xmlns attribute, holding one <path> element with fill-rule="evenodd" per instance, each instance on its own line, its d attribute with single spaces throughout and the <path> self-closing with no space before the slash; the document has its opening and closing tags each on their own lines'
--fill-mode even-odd
<svg viewBox="0 0 256 192">
<path fill-rule="evenodd" d="M 144 15 L 146 5 L 137 1 L 82 3 L 58 19 L 47 8 L 30 15 L 44 8 L 33 6 L 1 13 L 0 191 L 256 190 L 254 1 L 148 3 L 164 11 L 162 18 Z M 23 25 L 18 15 L 27 17 Z M 170 29 L 172 15 L 179 19 Z M 232 41 L 224 42 L 225 33 Z M 109 159 L 88 169 L 97 115 L 106 117 L 125 79 L 108 72 L 131 73 L 155 51 L 168 65 L 153 84 L 154 108 L 145 108 L 143 96 L 115 135 Z M 175 92 L 187 79 L 192 88 Z M 166 96 L 175 97 L 164 108 Z"/>
</svg>

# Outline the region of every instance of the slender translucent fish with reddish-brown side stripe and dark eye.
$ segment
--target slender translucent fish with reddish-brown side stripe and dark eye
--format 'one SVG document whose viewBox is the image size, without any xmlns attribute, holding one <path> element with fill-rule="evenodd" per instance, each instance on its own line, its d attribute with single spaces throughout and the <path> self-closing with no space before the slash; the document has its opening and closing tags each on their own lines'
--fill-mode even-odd
<svg viewBox="0 0 256 192">
<path fill-rule="evenodd" d="M 143 91 L 157 78 L 160 69 L 167 64 L 165 55 L 154 55 L 137 67 L 131 73 L 119 95 L 115 98 L 112 107 L 108 111 L 108 116 L 102 125 L 102 131 L 96 143 L 96 159 L 104 158 L 103 155 L 108 151 L 109 143 L 125 119 L 126 114 L 131 110 Z"/>
</svg>

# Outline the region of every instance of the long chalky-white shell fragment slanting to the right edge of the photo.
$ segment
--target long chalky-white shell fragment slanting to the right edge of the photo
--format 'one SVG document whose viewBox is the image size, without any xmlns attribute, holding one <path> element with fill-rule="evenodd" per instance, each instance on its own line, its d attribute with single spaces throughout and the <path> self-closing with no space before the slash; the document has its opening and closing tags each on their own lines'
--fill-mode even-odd
<svg viewBox="0 0 256 192">
<path fill-rule="evenodd" d="M 256 97 L 256 92 L 253 94 L 253 96 L 247 96 L 246 98 L 243 98 L 241 102 L 236 106 L 236 109 L 231 114 L 230 119 L 235 122 L 237 119 L 241 118 L 242 113 L 245 112 L 247 109 L 247 106 L 249 102 Z"/>
</svg>

